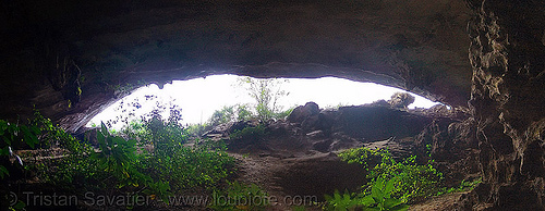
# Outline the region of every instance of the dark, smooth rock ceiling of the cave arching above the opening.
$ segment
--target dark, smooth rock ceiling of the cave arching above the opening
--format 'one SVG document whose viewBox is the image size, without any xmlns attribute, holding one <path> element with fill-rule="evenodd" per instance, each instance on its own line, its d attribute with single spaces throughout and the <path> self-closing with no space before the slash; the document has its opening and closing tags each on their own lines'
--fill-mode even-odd
<svg viewBox="0 0 545 211">
<path fill-rule="evenodd" d="M 460 0 L 22 0 L 1 7 L 3 119 L 35 107 L 75 131 L 125 89 L 227 73 L 375 82 L 455 107 L 470 98 L 465 28 L 473 14 Z"/>
</svg>

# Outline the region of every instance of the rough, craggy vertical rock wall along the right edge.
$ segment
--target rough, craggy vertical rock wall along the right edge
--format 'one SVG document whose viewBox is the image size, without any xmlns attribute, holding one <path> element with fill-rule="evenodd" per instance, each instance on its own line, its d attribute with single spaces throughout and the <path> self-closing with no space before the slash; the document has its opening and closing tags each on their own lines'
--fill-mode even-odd
<svg viewBox="0 0 545 211">
<path fill-rule="evenodd" d="M 468 1 L 484 210 L 545 209 L 544 1 Z"/>
</svg>

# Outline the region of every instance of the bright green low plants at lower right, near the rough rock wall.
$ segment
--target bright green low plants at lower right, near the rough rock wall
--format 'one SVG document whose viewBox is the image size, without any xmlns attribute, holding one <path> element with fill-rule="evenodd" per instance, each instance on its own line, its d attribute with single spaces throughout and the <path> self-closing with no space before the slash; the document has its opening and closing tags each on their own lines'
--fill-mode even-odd
<svg viewBox="0 0 545 211">
<path fill-rule="evenodd" d="M 428 156 L 426 163 L 416 163 L 416 157 L 396 161 L 386 149 L 354 148 L 339 153 L 349 163 L 359 163 L 367 172 L 368 183 L 360 193 L 326 195 L 327 210 L 407 210 L 410 203 L 433 196 L 473 189 L 481 178 L 462 181 L 458 187 L 443 185 L 443 173 L 434 167 Z"/>
</svg>

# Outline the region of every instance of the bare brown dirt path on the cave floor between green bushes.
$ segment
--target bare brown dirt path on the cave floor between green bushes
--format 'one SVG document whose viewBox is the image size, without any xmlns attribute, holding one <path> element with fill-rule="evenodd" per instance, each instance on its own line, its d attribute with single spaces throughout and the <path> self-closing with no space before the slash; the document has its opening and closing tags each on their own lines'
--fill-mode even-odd
<svg viewBox="0 0 545 211">
<path fill-rule="evenodd" d="M 267 210 L 292 210 L 301 204 L 305 210 L 322 210 L 312 201 L 324 201 L 324 194 L 331 195 L 335 189 L 356 191 L 354 188 L 365 183 L 365 172 L 359 165 L 347 164 L 334 153 L 317 152 L 298 158 L 230 154 L 239 161 L 239 181 L 254 183 L 276 199 Z M 411 206 L 409 210 L 451 210 L 462 194 L 434 197 Z"/>
</svg>

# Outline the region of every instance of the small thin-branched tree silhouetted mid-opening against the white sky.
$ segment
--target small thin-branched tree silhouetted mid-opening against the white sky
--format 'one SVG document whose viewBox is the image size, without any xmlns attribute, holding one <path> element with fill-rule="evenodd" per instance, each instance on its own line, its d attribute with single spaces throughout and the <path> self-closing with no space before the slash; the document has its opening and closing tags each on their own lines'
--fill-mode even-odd
<svg viewBox="0 0 545 211">
<path fill-rule="evenodd" d="M 277 115 L 281 113 L 283 108 L 278 104 L 278 99 L 289 95 L 289 92 L 281 89 L 281 85 L 287 82 L 288 79 L 277 78 L 256 79 L 243 77 L 238 79 L 239 86 L 244 87 L 250 97 L 256 101 L 255 111 L 257 119 L 261 121 L 278 117 Z"/>
</svg>

